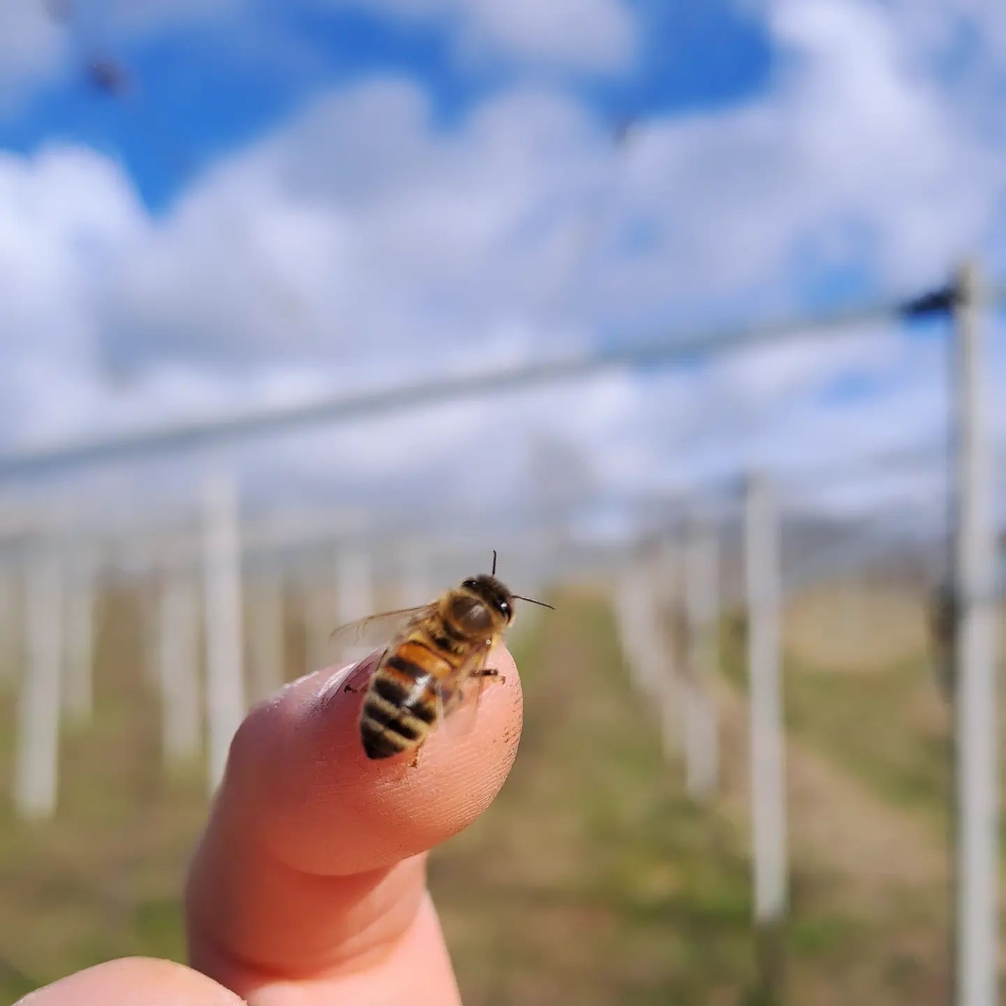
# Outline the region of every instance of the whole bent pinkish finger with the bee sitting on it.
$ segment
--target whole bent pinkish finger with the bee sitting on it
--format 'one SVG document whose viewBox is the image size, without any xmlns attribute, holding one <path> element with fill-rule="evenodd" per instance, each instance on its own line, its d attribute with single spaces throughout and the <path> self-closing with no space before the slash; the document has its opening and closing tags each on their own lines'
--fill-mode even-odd
<svg viewBox="0 0 1006 1006">
<path fill-rule="evenodd" d="M 500 678 L 485 687 L 472 729 L 452 731 L 449 719 L 414 768 L 408 756 L 371 761 L 358 720 L 377 659 L 295 682 L 234 739 L 187 894 L 192 961 L 230 988 L 324 980 L 331 996 L 332 981 L 361 972 L 398 981 L 401 969 L 387 962 L 418 952 L 440 998 L 416 998 L 414 974 L 398 991 L 416 1004 L 456 999 L 425 898 L 425 853 L 502 786 L 520 735 L 520 684 L 509 654 L 496 651 Z"/>
</svg>

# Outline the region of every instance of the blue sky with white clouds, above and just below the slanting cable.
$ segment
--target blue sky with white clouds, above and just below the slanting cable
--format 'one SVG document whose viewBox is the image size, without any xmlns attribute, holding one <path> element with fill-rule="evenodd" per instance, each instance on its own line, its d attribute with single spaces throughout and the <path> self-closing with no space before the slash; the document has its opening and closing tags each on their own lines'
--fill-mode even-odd
<svg viewBox="0 0 1006 1006">
<path fill-rule="evenodd" d="M 49 6 L 0 12 L 8 446 L 914 294 L 965 253 L 1006 276 L 993 0 Z M 521 486 L 545 431 L 601 486 L 668 489 L 936 443 L 941 353 L 891 327 L 271 464 L 323 481 L 337 443 L 376 491 L 464 429 Z"/>
</svg>

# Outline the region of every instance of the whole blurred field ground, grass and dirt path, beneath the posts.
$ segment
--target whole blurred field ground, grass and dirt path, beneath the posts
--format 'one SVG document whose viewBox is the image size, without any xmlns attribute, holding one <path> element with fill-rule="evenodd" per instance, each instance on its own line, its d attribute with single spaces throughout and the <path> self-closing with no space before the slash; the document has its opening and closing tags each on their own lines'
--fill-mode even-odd
<svg viewBox="0 0 1006 1006">
<path fill-rule="evenodd" d="M 863 623 L 843 608 L 855 590 L 848 580 L 799 597 L 786 623 L 792 995 L 944 1002 L 945 708 L 927 637 L 912 631 L 920 606 L 904 588 L 866 589 L 901 613 L 904 648 L 886 659 L 846 653 L 837 673 L 839 626 L 869 625 L 865 609 Z M 588 584 L 550 597 L 558 611 L 515 643 L 526 723 L 511 779 L 431 866 L 465 1002 L 753 1001 L 736 634 L 722 630 L 717 684 L 724 798 L 703 807 L 633 694 L 606 593 Z M 58 816 L 30 825 L 5 807 L 0 818 L 4 1001 L 112 957 L 184 959 L 178 898 L 204 785 L 196 766 L 161 772 L 157 697 L 137 673 L 135 601 L 123 594 L 104 606 L 100 712 L 67 733 Z M 0 708 L 9 779 L 9 691 Z"/>
</svg>

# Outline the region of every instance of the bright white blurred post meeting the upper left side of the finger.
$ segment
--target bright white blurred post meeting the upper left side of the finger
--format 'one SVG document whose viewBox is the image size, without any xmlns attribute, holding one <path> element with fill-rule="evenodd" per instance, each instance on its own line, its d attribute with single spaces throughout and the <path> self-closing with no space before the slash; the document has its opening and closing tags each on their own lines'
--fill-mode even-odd
<svg viewBox="0 0 1006 1006">
<path fill-rule="evenodd" d="M 230 740 L 244 715 L 241 673 L 241 557 L 237 492 L 211 482 L 203 501 L 203 606 L 210 788 L 223 778 Z"/>
</svg>

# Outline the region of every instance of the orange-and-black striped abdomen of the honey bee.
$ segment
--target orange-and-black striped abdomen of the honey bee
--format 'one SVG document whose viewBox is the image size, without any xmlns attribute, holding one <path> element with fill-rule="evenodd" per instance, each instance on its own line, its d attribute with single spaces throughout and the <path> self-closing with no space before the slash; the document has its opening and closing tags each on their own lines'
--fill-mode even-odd
<svg viewBox="0 0 1006 1006">
<path fill-rule="evenodd" d="M 450 673 L 452 656 L 422 631 L 388 650 L 374 672 L 360 716 L 367 758 L 391 758 L 426 740 L 437 719 L 437 681 Z"/>
</svg>

